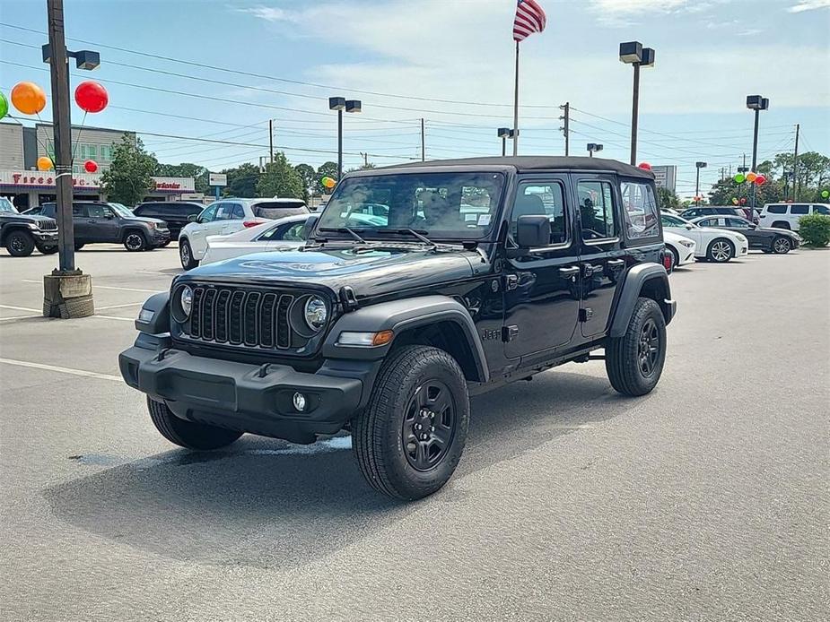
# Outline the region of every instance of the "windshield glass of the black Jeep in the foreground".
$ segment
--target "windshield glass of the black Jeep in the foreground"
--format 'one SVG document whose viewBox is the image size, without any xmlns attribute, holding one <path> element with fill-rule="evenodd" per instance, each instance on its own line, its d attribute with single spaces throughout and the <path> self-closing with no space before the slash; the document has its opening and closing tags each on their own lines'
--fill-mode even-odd
<svg viewBox="0 0 830 622">
<path fill-rule="evenodd" d="M 319 229 L 422 231 L 430 238 L 484 238 L 502 195 L 502 173 L 400 173 L 346 178 L 319 218 Z"/>
</svg>

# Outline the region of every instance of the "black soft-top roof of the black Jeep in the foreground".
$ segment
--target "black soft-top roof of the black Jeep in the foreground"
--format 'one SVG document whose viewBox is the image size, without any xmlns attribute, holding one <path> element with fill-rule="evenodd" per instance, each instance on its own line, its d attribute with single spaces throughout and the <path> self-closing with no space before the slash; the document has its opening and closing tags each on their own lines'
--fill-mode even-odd
<svg viewBox="0 0 830 622">
<path fill-rule="evenodd" d="M 651 170 L 633 167 L 617 160 L 605 158 L 564 157 L 564 156 L 507 156 L 491 158 L 460 158 L 458 160 L 430 160 L 428 162 L 411 162 L 383 167 L 379 170 L 391 168 L 436 168 L 436 167 L 512 167 L 518 172 L 537 170 L 582 170 L 582 171 L 612 171 L 628 177 L 645 177 L 653 179 Z"/>
</svg>

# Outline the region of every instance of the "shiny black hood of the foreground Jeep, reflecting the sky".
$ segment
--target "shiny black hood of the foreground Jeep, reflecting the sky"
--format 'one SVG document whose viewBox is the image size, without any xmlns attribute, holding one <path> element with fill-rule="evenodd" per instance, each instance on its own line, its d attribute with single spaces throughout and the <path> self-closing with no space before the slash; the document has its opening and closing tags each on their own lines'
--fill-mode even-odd
<svg viewBox="0 0 830 622">
<path fill-rule="evenodd" d="M 247 281 L 291 287 L 348 285 L 357 298 L 467 279 L 484 263 L 476 251 L 406 246 L 354 246 L 243 255 L 191 270 L 179 280 Z"/>
</svg>

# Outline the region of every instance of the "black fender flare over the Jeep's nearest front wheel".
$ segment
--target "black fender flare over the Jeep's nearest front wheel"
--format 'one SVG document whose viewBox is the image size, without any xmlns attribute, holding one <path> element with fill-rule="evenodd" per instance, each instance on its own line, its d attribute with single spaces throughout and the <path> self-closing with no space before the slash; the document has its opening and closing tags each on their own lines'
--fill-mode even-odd
<svg viewBox="0 0 830 622">
<path fill-rule="evenodd" d="M 381 302 L 377 305 L 359 308 L 352 313 L 341 315 L 328 332 L 323 343 L 325 359 L 383 359 L 394 339 L 387 345 L 377 347 L 338 345 L 340 333 L 379 333 L 392 331 L 395 338 L 412 328 L 418 328 L 438 322 L 457 324 L 467 340 L 467 346 L 473 353 L 478 382 L 490 379 L 484 346 L 476 330 L 476 324 L 467 308 L 458 300 L 447 296 L 420 296 Z"/>
</svg>

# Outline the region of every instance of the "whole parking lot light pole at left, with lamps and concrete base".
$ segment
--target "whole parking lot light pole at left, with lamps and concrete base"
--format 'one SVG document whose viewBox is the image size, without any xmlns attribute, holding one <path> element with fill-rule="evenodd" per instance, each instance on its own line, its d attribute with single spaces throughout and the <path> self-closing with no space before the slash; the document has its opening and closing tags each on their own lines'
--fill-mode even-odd
<svg viewBox="0 0 830 622">
<path fill-rule="evenodd" d="M 98 52 L 66 49 L 63 0 L 47 0 L 48 45 L 43 46 L 43 62 L 48 63 L 52 86 L 52 129 L 55 140 L 55 185 L 58 267 L 43 277 L 43 315 L 47 317 L 86 317 L 95 312 L 92 278 L 75 268 L 74 226 L 72 220 L 72 120 L 69 108 L 68 58 L 79 69 L 100 65 Z"/>
</svg>

